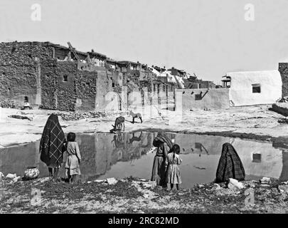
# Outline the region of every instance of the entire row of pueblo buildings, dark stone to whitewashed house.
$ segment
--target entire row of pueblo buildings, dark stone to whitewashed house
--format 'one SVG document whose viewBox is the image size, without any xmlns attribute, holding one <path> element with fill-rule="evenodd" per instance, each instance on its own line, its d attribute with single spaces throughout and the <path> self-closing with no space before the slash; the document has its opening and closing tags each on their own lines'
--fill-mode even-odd
<svg viewBox="0 0 288 228">
<path fill-rule="evenodd" d="M 288 63 L 279 71 L 227 73 L 216 86 L 176 68 L 114 61 L 68 44 L 0 43 L 0 106 L 28 100 L 33 108 L 66 111 L 206 110 L 272 104 L 288 94 Z"/>
</svg>

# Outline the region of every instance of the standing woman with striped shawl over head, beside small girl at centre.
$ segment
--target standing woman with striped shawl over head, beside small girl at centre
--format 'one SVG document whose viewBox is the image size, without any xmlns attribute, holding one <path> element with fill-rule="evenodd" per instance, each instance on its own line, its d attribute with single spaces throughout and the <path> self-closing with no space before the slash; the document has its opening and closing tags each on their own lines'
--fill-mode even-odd
<svg viewBox="0 0 288 228">
<path fill-rule="evenodd" d="M 151 180 L 156 181 L 157 185 L 166 187 L 166 157 L 171 150 L 173 143 L 165 133 L 159 132 L 153 141 L 157 152 L 154 157 Z"/>
</svg>

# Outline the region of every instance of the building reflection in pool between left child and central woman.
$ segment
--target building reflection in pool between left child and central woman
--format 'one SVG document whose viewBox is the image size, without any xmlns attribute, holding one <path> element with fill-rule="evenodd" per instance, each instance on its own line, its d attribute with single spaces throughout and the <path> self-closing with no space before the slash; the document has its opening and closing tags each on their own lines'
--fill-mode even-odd
<svg viewBox="0 0 288 228">
<path fill-rule="evenodd" d="M 86 157 L 80 166 L 82 180 L 104 175 L 119 161 L 139 159 L 152 146 L 151 136 L 148 133 L 80 135 L 80 152 Z"/>
</svg>

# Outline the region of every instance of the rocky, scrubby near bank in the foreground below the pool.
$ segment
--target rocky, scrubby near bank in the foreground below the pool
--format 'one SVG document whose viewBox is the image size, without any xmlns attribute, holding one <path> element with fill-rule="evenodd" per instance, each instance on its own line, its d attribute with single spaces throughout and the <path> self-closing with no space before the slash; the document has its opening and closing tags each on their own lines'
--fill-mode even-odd
<svg viewBox="0 0 288 228">
<path fill-rule="evenodd" d="M 180 191 L 154 184 L 136 177 L 73 185 L 4 178 L 0 213 L 288 213 L 287 182 L 246 181 L 242 189 L 209 183 Z"/>
</svg>

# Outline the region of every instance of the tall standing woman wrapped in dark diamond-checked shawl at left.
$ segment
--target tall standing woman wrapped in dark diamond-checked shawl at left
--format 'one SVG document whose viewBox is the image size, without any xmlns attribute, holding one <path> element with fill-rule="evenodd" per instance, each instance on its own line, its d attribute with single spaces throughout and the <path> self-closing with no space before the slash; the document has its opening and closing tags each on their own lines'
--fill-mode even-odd
<svg viewBox="0 0 288 228">
<path fill-rule="evenodd" d="M 65 144 L 66 139 L 58 121 L 58 116 L 51 114 L 43 130 L 39 150 L 41 161 L 48 166 L 49 175 L 54 179 L 57 179 L 58 170 L 63 162 Z"/>
</svg>

